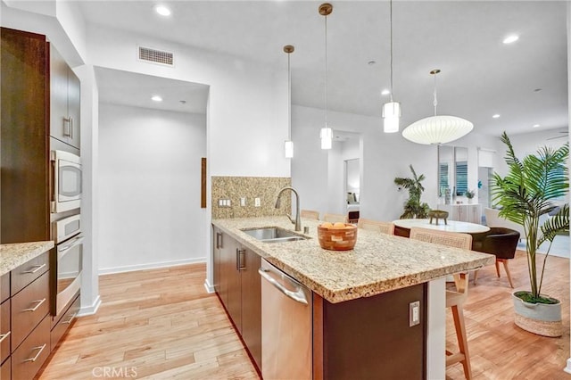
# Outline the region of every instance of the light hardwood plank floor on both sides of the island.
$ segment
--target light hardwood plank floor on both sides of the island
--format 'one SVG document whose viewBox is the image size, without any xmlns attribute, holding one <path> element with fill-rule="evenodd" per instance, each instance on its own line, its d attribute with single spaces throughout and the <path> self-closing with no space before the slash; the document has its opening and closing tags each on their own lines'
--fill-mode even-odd
<svg viewBox="0 0 571 380">
<path fill-rule="evenodd" d="M 510 268 L 514 285 L 525 288 L 525 254 L 518 252 Z M 100 277 L 101 308 L 79 318 L 40 378 L 102 378 L 105 368 L 129 375 L 134 369 L 137 378 L 258 378 L 218 298 L 205 293 L 204 277 L 203 264 Z M 470 284 L 465 318 L 476 380 L 571 378 L 562 371 L 569 358 L 569 260 L 550 258 L 544 283 L 544 293 L 565 305 L 561 338 L 513 324 L 512 290 L 493 266 Z M 451 318 L 447 323 L 453 331 Z M 447 339 L 455 342 L 454 335 Z M 464 378 L 459 364 L 446 375 Z"/>
</svg>

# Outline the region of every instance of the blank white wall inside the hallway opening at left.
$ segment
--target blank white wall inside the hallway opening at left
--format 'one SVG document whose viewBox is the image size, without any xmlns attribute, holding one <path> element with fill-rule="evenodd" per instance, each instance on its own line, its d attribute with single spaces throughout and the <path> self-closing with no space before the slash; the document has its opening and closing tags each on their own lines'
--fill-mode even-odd
<svg viewBox="0 0 571 380">
<path fill-rule="evenodd" d="M 99 106 L 99 271 L 206 260 L 204 115 Z"/>
</svg>

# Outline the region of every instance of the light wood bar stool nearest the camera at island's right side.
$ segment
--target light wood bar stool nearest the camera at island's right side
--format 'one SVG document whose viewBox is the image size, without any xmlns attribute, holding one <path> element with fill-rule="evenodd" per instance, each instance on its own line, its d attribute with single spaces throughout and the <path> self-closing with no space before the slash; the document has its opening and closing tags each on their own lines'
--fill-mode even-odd
<svg viewBox="0 0 571 380">
<path fill-rule="evenodd" d="M 410 239 L 442 244 L 465 250 L 470 250 L 472 248 L 472 235 L 455 232 L 412 227 L 410 228 Z M 466 323 L 464 321 L 464 302 L 466 302 L 468 298 L 468 273 L 459 273 L 454 275 L 454 284 L 456 285 L 456 291 L 446 291 L 446 308 L 451 308 L 452 311 L 459 351 L 452 352 L 446 350 L 446 367 L 449 367 L 452 364 L 461 363 L 464 368 L 464 375 L 467 379 L 471 379 L 472 368 L 468 353 Z"/>
</svg>

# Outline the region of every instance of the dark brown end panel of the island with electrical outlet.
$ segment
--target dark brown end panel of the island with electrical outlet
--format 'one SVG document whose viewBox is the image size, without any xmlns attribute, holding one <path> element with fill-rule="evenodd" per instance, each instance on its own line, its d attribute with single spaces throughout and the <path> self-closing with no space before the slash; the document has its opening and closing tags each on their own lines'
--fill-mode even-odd
<svg viewBox="0 0 571 380">
<path fill-rule="evenodd" d="M 420 324 L 409 326 L 416 301 Z M 314 378 L 426 378 L 426 284 L 340 303 L 315 296 L 313 308 Z"/>
</svg>

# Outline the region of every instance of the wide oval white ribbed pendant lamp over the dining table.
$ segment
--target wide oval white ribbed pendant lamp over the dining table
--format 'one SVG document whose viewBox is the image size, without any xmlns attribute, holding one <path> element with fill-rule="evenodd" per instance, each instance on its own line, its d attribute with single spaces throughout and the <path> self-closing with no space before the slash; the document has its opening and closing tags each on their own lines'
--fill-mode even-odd
<svg viewBox="0 0 571 380">
<path fill-rule="evenodd" d="M 468 135 L 474 128 L 470 121 L 456 116 L 436 115 L 436 74 L 440 70 L 434 69 L 434 116 L 415 121 L 402 131 L 402 136 L 417 144 L 445 144 Z"/>
</svg>

